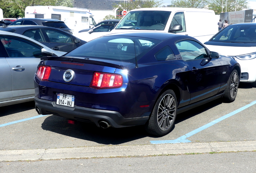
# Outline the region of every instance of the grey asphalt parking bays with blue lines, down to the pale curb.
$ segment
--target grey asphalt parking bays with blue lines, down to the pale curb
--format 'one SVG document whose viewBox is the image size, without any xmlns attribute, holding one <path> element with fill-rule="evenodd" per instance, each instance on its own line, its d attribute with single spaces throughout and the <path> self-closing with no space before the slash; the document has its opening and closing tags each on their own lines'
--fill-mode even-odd
<svg viewBox="0 0 256 173">
<path fill-rule="evenodd" d="M 144 149 L 146 151 L 141 155 L 154 154 L 152 150 L 158 150 L 161 154 L 165 150 L 169 151 L 170 147 L 176 153 L 179 153 L 178 150 L 182 148 L 192 149 L 187 150 L 188 152 L 209 153 L 213 145 L 221 148 L 226 144 L 252 146 L 250 150 L 253 151 L 256 150 L 254 145 L 256 141 L 255 103 L 256 88 L 250 84 L 241 83 L 233 103 L 222 103 L 221 100 L 217 100 L 182 113 L 178 115 L 171 133 L 164 137 L 148 135 L 143 126 L 101 129 L 82 122 L 68 124 L 67 119 L 54 115 L 38 116 L 33 102 L 0 107 L 0 160 L 23 160 L 23 157 L 7 158 L 8 154 L 24 155 L 24 160 L 47 159 L 41 157 L 40 152 L 45 153 L 45 150 L 51 149 L 52 151 L 55 149 L 52 152 L 53 155 L 54 153 L 63 154 L 66 151 L 76 153 L 78 150 L 81 153 L 91 149 L 94 152 L 90 151 L 91 154 L 88 157 L 98 157 L 97 150 L 103 152 L 103 149 L 109 152 L 118 149 L 124 151 L 124 155 L 129 155 L 129 152 L 130 155 L 136 155 L 136 152 L 132 151 Z M 209 144 L 213 145 L 208 148 Z M 164 148 L 163 151 L 158 147 Z M 75 149 L 78 150 L 75 151 Z M 233 150 L 238 151 L 235 148 Z M 27 155 L 24 154 L 27 151 Z M 180 150 L 180 153 L 187 151 Z M 242 151 L 248 151 L 248 149 L 245 148 Z M 79 157 L 81 155 L 76 158 Z M 108 157 L 108 155 L 105 154 L 102 157 Z M 49 158 L 59 159 L 66 156 Z"/>
</svg>

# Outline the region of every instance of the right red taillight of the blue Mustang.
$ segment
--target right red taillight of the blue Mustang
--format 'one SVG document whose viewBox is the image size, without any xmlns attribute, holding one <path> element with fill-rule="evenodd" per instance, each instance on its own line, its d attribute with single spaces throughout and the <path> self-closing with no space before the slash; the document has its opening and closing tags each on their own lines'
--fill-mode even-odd
<svg viewBox="0 0 256 173">
<path fill-rule="evenodd" d="M 120 74 L 94 72 L 91 87 L 94 88 L 117 88 L 123 84 Z"/>
</svg>

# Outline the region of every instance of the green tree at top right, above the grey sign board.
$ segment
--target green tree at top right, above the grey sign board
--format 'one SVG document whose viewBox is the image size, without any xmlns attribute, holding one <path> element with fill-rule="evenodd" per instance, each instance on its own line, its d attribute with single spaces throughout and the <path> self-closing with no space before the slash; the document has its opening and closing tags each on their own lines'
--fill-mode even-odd
<svg viewBox="0 0 256 173">
<path fill-rule="evenodd" d="M 227 4 L 226 4 L 227 2 Z M 236 2 L 236 4 L 235 4 Z M 223 6 L 222 6 L 223 3 Z M 209 1 L 209 9 L 213 10 L 215 14 L 220 14 L 226 12 L 226 5 L 227 5 L 227 12 L 231 11 L 239 11 L 247 8 L 247 0 L 210 0 Z"/>
</svg>

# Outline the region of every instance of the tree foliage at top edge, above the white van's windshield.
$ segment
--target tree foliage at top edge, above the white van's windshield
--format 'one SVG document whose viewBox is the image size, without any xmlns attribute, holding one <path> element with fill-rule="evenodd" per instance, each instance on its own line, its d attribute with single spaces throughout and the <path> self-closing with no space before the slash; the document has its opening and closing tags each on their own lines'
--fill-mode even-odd
<svg viewBox="0 0 256 173">
<path fill-rule="evenodd" d="M 152 8 L 161 6 L 162 1 L 157 0 L 126 0 L 119 4 L 114 4 L 114 8 L 122 8 L 123 10 L 130 11 L 137 8 Z"/>
</svg>

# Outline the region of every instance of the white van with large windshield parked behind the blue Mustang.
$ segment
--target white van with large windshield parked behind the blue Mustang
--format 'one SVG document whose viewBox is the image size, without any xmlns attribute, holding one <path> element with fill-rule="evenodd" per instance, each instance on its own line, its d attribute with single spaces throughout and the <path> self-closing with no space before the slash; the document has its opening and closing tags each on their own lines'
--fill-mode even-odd
<svg viewBox="0 0 256 173">
<path fill-rule="evenodd" d="M 143 30 L 172 32 L 206 42 L 218 32 L 218 20 L 213 10 L 140 8 L 128 12 L 111 33 Z"/>
</svg>

